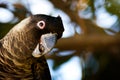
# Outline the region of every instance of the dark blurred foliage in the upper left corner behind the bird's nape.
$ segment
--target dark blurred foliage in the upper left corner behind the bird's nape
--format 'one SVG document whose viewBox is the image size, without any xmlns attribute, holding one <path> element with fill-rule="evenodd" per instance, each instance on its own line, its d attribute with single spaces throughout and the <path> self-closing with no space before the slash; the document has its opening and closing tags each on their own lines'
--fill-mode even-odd
<svg viewBox="0 0 120 80">
<path fill-rule="evenodd" d="M 31 14 L 28 12 L 28 10 L 25 8 L 24 5 L 21 3 L 15 3 L 12 4 L 12 7 L 14 10 L 9 9 L 9 3 L 1 2 L 0 8 L 7 9 L 8 11 L 12 12 L 14 15 L 14 19 L 12 19 L 8 23 L 2 23 L 0 22 L 0 39 L 7 34 L 7 32 L 19 21 L 23 20 L 27 14 Z M 16 20 L 17 19 L 17 20 Z M 12 22 L 13 21 L 13 22 Z"/>
</svg>

